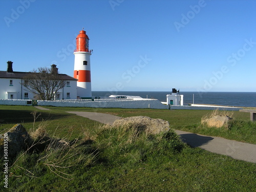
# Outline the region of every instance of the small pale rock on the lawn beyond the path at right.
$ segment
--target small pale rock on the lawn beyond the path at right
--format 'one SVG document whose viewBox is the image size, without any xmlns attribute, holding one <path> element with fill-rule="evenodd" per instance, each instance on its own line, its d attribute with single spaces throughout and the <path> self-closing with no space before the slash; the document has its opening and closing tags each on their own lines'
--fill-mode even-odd
<svg viewBox="0 0 256 192">
<path fill-rule="evenodd" d="M 227 115 L 216 115 L 214 117 L 211 117 L 209 119 L 203 119 L 201 123 L 205 123 L 209 127 L 226 127 L 228 128 L 228 122 L 232 118 L 228 117 Z"/>
</svg>

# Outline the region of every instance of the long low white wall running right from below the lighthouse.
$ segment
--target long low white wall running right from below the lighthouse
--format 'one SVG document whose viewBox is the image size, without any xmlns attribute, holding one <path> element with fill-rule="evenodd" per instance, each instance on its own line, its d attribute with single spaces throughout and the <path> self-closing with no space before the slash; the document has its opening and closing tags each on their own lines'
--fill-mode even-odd
<svg viewBox="0 0 256 192">
<path fill-rule="evenodd" d="M 40 106 L 74 106 L 74 107 L 88 107 L 88 108 L 126 108 L 126 109 L 168 109 L 167 105 L 163 105 L 157 99 L 144 100 L 100 100 L 100 101 L 42 101 L 38 100 Z"/>
</svg>

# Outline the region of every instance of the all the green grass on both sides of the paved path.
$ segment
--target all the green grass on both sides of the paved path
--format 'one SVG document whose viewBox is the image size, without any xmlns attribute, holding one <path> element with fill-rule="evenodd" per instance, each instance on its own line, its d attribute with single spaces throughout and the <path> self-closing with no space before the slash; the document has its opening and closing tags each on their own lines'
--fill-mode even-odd
<svg viewBox="0 0 256 192">
<path fill-rule="evenodd" d="M 237 138 L 255 143 L 255 124 L 249 113 L 234 112 L 237 130 L 207 131 L 201 117 L 210 111 L 55 108 L 41 111 L 33 106 L 0 106 L 0 133 L 16 123 L 35 130 L 44 120 L 49 135 L 78 144 L 63 150 L 20 154 L 10 167 L 12 191 L 254 191 L 255 164 L 190 148 L 175 134 L 132 137 L 122 130 L 101 130 L 100 123 L 66 111 L 109 113 L 121 117 L 149 116 L 168 120 L 173 129 Z M 31 112 L 37 111 L 36 120 Z M 247 123 L 247 128 L 243 129 Z M 248 133 L 249 132 L 249 133 Z M 69 137 L 71 135 L 71 137 Z M 231 135 L 231 136 L 230 136 Z M 12 160 L 14 161 L 14 160 Z M 3 164 L 3 163 L 2 163 Z M 54 166 L 56 165 L 56 166 Z M 3 181 L 3 173 L 0 179 Z M 4 188 L 3 182 L 0 188 Z"/>
</svg>

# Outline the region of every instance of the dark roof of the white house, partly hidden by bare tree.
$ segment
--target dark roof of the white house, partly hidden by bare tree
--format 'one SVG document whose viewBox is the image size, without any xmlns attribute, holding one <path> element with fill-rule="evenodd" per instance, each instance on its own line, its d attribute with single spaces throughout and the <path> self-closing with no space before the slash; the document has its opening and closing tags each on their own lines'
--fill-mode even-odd
<svg viewBox="0 0 256 192">
<path fill-rule="evenodd" d="M 12 73 L 8 73 L 7 71 L 0 71 L 0 78 L 11 78 L 11 79 L 22 79 L 24 78 L 28 73 L 30 72 L 12 72 Z M 58 74 L 60 76 L 61 79 L 64 80 L 75 80 L 77 81 L 78 79 L 71 77 L 69 75 L 66 74 Z"/>
</svg>

